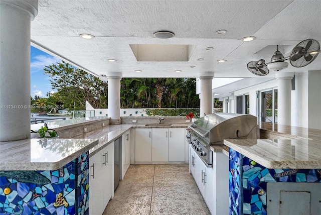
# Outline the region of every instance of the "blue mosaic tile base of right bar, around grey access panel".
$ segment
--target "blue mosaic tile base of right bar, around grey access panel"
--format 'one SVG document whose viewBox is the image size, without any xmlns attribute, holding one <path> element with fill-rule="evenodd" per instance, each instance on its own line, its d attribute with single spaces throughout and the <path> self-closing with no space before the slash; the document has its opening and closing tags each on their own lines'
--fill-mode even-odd
<svg viewBox="0 0 321 215">
<path fill-rule="evenodd" d="M 229 214 L 266 215 L 268 182 L 321 182 L 321 169 L 267 169 L 230 148 Z"/>
</svg>

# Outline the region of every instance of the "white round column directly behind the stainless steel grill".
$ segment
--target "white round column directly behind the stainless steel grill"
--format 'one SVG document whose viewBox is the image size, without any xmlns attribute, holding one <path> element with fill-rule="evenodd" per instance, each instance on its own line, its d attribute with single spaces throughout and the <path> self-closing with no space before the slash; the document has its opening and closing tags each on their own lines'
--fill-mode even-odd
<svg viewBox="0 0 321 215">
<path fill-rule="evenodd" d="M 211 73 L 212 74 L 212 73 Z M 213 112 L 213 99 L 212 99 L 212 79 L 214 75 L 207 74 L 200 76 L 201 80 L 201 94 L 200 94 L 200 117 L 205 115 L 212 114 Z"/>
</svg>

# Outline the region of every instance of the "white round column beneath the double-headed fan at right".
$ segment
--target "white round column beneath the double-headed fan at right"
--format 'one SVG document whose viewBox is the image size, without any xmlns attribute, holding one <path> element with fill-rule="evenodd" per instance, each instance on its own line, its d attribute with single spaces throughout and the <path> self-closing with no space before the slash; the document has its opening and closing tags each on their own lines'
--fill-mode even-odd
<svg viewBox="0 0 321 215">
<path fill-rule="evenodd" d="M 291 79 L 293 73 L 279 72 L 277 79 L 277 124 L 291 125 Z"/>
</svg>

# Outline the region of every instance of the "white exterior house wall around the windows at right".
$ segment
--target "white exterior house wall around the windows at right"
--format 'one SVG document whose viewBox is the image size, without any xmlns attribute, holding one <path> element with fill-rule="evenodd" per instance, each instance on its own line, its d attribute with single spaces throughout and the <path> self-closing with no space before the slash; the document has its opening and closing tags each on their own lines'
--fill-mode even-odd
<svg viewBox="0 0 321 215">
<path fill-rule="evenodd" d="M 291 126 L 321 129 L 321 71 L 295 73 L 295 89 L 291 90 Z M 236 96 L 250 95 L 250 114 L 259 116 L 256 108 L 256 91 L 277 88 L 276 79 L 234 91 L 231 113 L 236 113 Z M 223 110 L 225 111 L 225 99 Z"/>
</svg>

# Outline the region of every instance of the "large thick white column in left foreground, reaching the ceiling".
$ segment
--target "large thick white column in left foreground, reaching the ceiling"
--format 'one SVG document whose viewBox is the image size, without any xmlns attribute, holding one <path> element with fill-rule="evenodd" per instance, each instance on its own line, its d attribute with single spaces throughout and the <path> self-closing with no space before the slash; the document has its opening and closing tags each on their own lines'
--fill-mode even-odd
<svg viewBox="0 0 321 215">
<path fill-rule="evenodd" d="M 0 142 L 30 138 L 30 21 L 38 0 L 0 1 Z"/>
</svg>

